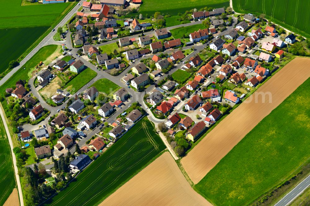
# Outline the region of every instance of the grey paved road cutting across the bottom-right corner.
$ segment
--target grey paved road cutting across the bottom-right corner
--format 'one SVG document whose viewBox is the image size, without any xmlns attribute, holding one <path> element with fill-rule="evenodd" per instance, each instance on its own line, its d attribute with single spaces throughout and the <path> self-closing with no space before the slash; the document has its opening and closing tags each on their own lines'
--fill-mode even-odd
<svg viewBox="0 0 310 206">
<path fill-rule="evenodd" d="M 298 195 L 310 186 L 310 175 L 300 182 L 292 191 L 285 195 L 275 206 L 285 206 L 290 204 Z"/>
</svg>

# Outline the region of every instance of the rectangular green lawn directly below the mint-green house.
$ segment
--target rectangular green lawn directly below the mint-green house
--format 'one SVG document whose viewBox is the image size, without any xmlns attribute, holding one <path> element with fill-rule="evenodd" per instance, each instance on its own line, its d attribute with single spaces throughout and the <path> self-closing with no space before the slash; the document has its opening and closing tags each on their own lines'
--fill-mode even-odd
<svg viewBox="0 0 310 206">
<path fill-rule="evenodd" d="M 80 74 L 78 74 L 74 79 L 66 84 L 66 90 L 70 93 L 77 92 L 85 84 L 94 79 L 97 76 L 97 72 L 93 71 L 91 68 L 84 69 Z"/>
</svg>

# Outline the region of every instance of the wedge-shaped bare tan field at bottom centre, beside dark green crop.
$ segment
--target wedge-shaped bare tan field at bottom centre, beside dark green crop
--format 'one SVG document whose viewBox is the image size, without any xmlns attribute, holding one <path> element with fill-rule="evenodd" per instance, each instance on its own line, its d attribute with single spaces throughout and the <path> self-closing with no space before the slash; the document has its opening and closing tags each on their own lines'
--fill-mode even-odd
<svg viewBox="0 0 310 206">
<path fill-rule="evenodd" d="M 105 199 L 106 205 L 211 205 L 189 185 L 169 152 Z"/>
</svg>

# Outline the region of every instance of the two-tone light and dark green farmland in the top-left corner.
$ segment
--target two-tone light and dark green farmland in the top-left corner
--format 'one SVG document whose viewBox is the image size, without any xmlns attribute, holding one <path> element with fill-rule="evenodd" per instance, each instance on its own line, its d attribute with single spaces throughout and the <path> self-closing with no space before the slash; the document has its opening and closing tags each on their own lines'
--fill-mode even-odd
<svg viewBox="0 0 310 206">
<path fill-rule="evenodd" d="M 11 60 L 17 60 L 34 43 L 47 35 L 48 29 L 63 19 L 77 2 L 55 4 L 33 4 L 21 6 L 22 0 L 0 0 L 0 35 L 2 48 L 0 56 L 5 56 L 0 62 L 0 73 L 8 68 Z M 41 37 L 41 38 L 40 38 Z M 38 43 L 38 42 L 37 42 Z"/>
</svg>

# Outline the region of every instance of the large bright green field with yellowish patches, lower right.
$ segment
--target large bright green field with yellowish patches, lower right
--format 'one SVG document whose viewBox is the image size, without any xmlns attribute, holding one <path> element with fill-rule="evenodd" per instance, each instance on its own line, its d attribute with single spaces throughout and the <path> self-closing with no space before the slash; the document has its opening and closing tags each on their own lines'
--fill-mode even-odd
<svg viewBox="0 0 310 206">
<path fill-rule="evenodd" d="M 254 127 L 194 189 L 214 205 L 251 205 L 310 158 L 310 78 Z"/>
</svg>

